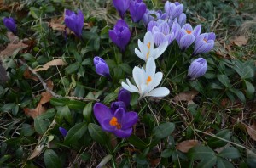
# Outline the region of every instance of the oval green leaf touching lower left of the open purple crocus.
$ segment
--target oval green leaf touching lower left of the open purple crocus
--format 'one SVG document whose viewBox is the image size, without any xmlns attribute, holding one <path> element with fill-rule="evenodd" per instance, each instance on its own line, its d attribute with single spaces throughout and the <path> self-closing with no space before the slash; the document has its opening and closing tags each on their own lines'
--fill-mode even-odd
<svg viewBox="0 0 256 168">
<path fill-rule="evenodd" d="M 90 137 L 96 141 L 96 143 L 106 144 L 108 142 L 108 136 L 102 131 L 102 127 L 94 123 L 88 125 Z"/>
</svg>

